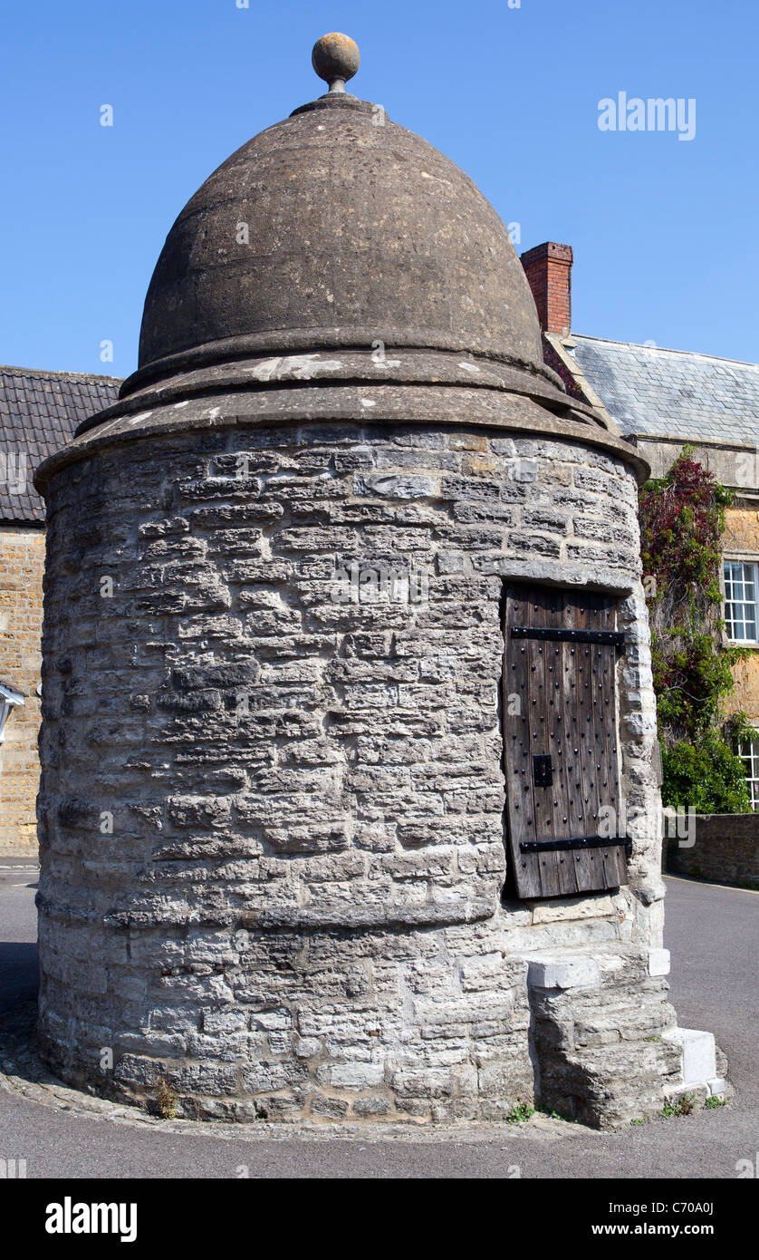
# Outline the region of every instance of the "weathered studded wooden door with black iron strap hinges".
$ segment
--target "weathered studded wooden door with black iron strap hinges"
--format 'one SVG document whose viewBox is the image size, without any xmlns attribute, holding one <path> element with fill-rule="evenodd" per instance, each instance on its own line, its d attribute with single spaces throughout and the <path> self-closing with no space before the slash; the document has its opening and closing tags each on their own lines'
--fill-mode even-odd
<svg viewBox="0 0 759 1260">
<path fill-rule="evenodd" d="M 546 586 L 506 591 L 503 746 L 520 897 L 627 882 L 617 747 L 616 601 Z"/>
</svg>

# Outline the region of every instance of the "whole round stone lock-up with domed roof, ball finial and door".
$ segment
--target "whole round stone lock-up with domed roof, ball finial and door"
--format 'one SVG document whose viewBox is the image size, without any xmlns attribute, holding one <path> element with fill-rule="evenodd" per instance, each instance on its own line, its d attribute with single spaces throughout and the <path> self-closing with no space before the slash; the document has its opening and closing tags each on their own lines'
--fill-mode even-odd
<svg viewBox="0 0 759 1260">
<path fill-rule="evenodd" d="M 38 472 L 43 1052 L 198 1118 L 661 1110 L 646 470 L 471 179 L 315 67 Z"/>
</svg>

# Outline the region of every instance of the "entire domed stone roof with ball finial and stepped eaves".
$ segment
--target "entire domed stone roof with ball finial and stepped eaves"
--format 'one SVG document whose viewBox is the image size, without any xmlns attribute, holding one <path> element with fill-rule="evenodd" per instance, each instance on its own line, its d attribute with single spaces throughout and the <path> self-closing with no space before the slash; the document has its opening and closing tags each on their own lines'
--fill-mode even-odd
<svg viewBox="0 0 759 1260">
<path fill-rule="evenodd" d="M 185 205 L 150 284 L 137 372 L 62 459 L 147 432 L 373 421 L 561 435 L 643 470 L 544 363 L 492 205 L 345 91 L 359 60 L 347 37 L 320 40 L 329 93 L 238 149 Z"/>
</svg>

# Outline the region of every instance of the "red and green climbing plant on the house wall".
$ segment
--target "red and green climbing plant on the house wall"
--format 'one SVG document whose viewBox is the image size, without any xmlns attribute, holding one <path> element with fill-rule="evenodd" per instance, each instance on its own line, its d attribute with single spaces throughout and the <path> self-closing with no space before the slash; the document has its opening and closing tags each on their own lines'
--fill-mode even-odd
<svg viewBox="0 0 759 1260">
<path fill-rule="evenodd" d="M 754 732 L 745 714 L 725 716 L 733 667 L 746 654 L 722 634 L 721 536 L 731 503 L 690 446 L 639 496 L 662 799 L 699 813 L 750 809 L 735 748 Z"/>
</svg>

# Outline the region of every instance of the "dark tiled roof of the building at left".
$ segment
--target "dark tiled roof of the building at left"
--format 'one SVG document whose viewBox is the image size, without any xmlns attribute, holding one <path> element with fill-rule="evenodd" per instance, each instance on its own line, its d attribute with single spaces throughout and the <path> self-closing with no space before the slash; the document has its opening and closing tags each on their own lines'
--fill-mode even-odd
<svg viewBox="0 0 759 1260">
<path fill-rule="evenodd" d="M 0 523 L 44 522 L 34 470 L 81 421 L 115 402 L 120 384 L 116 377 L 0 367 Z"/>
</svg>

